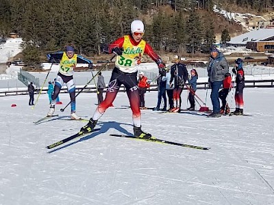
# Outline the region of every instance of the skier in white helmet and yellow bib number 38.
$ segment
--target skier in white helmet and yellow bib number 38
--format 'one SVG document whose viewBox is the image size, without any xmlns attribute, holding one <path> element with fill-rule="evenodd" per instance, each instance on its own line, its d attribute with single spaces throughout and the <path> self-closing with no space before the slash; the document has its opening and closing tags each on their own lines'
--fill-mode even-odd
<svg viewBox="0 0 274 205">
<path fill-rule="evenodd" d="M 141 20 L 134 20 L 131 23 L 131 33 L 123 36 L 108 46 L 108 53 L 116 54 L 115 67 L 112 70 L 112 77 L 108 83 L 105 100 L 98 105 L 88 124 L 81 128 L 83 133 L 90 133 L 101 118 L 105 110 L 112 105 L 121 85 L 125 85 L 132 109 L 132 121 L 134 124 L 134 136 L 142 139 L 150 139 L 151 134 L 141 129 L 140 96 L 137 85 L 137 71 L 140 64 L 140 57 L 147 53 L 158 65 L 159 70 L 164 68 L 162 59 L 153 51 L 151 46 L 142 40 L 145 27 Z"/>
</svg>

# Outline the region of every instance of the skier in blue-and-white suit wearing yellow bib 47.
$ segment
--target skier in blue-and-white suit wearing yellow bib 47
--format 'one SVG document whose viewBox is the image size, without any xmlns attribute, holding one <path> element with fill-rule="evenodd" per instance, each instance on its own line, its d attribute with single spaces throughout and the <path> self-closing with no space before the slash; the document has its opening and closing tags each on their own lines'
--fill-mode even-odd
<svg viewBox="0 0 274 205">
<path fill-rule="evenodd" d="M 60 51 L 57 53 L 50 53 L 47 55 L 47 58 L 51 63 L 60 61 L 60 68 L 56 77 L 54 92 L 51 96 L 51 106 L 47 116 L 53 115 L 55 111 L 56 98 L 60 93 L 62 85 L 66 83 L 71 98 L 71 119 L 79 120 L 79 116 L 75 113 L 75 84 L 73 81 L 73 70 L 77 63 L 88 64 L 88 68 L 92 69 L 92 61 L 82 57 L 81 55 L 75 54 L 73 46 L 66 46 L 65 52 Z"/>
</svg>

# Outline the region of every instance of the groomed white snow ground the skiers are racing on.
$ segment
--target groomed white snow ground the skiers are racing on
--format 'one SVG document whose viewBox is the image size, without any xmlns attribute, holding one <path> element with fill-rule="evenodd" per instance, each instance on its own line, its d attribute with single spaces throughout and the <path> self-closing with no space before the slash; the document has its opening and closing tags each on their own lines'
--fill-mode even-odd
<svg viewBox="0 0 274 205">
<path fill-rule="evenodd" d="M 197 94 L 206 97 L 205 90 Z M 156 96 L 147 92 L 147 107 L 156 105 Z M 212 119 L 142 110 L 144 131 L 210 150 L 111 137 L 132 133 L 132 113 L 121 92 L 99 120 L 100 131 L 51 153 L 45 146 L 86 124 L 64 120 L 70 110 L 59 110 L 69 94 L 60 94 L 60 118 L 38 125 L 33 122 L 49 109 L 46 94 L 33 110 L 28 96 L 1 97 L 0 204 L 273 204 L 274 92 L 249 88 L 244 97 L 245 113 L 252 116 Z M 78 115 L 90 118 L 96 102 L 94 93 L 80 94 Z M 184 91 L 182 107 L 188 105 Z"/>
</svg>

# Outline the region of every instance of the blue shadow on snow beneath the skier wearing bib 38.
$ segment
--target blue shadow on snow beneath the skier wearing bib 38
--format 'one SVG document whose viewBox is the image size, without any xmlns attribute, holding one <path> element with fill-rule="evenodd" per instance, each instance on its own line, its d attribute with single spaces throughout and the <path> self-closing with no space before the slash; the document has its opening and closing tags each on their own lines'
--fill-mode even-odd
<svg viewBox="0 0 274 205">
<path fill-rule="evenodd" d="M 51 150 L 51 151 L 49 151 L 49 152 L 47 152 L 47 153 L 56 152 L 56 151 L 61 150 L 61 149 L 63 149 L 63 148 L 72 146 L 73 144 L 78 143 L 79 141 L 85 141 L 85 140 L 87 140 L 87 139 L 96 137 L 97 135 L 101 135 L 101 134 L 103 134 L 103 133 L 108 132 L 108 130 L 109 130 L 110 128 L 114 128 L 114 129 L 116 129 L 117 131 L 123 133 L 124 135 L 132 135 L 132 133 L 129 133 L 127 130 L 125 130 L 125 128 L 121 127 L 122 124 L 132 126 L 132 124 L 119 123 L 119 122 L 114 122 L 114 121 L 110 121 L 110 122 L 100 122 L 100 123 L 97 124 L 97 126 L 101 126 L 101 128 L 100 128 L 99 131 L 92 132 L 92 133 L 90 133 L 90 135 L 86 135 L 86 136 L 80 138 L 80 139 L 77 140 L 77 141 L 73 141 L 73 142 L 68 143 L 68 144 L 66 144 L 66 145 L 64 145 L 64 146 L 61 146 L 60 148 L 56 148 L 56 149 L 54 149 L 54 150 Z"/>
</svg>

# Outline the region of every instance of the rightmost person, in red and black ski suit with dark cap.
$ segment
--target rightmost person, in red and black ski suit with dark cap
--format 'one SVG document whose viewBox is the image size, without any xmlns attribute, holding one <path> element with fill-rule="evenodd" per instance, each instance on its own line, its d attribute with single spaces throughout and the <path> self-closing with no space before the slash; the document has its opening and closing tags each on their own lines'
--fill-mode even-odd
<svg viewBox="0 0 274 205">
<path fill-rule="evenodd" d="M 235 92 L 235 103 L 236 110 L 233 112 L 234 115 L 243 115 L 244 100 L 243 100 L 243 90 L 245 88 L 245 72 L 242 68 L 242 59 L 238 58 L 235 61 L 235 68 L 232 72 L 236 75 L 236 92 Z"/>
</svg>

